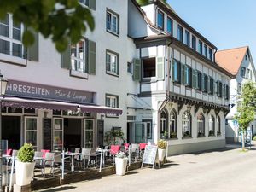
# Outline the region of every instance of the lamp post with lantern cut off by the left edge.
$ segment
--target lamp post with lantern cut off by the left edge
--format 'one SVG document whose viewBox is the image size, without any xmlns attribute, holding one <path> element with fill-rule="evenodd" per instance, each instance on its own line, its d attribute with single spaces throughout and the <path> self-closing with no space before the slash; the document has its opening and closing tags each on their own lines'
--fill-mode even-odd
<svg viewBox="0 0 256 192">
<path fill-rule="evenodd" d="M 3 74 L 0 72 L 0 191 L 3 192 L 3 149 L 2 149 L 2 102 L 8 80 L 3 78 Z"/>
</svg>

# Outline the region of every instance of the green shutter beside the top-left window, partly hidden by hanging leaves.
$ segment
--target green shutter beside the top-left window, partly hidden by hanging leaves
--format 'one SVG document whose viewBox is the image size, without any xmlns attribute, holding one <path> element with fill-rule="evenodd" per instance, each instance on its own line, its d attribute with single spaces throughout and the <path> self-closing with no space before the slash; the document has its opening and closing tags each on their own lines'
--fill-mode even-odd
<svg viewBox="0 0 256 192">
<path fill-rule="evenodd" d="M 39 61 L 39 34 L 38 32 L 33 32 L 34 43 L 27 48 L 27 59 L 31 61 Z"/>
</svg>

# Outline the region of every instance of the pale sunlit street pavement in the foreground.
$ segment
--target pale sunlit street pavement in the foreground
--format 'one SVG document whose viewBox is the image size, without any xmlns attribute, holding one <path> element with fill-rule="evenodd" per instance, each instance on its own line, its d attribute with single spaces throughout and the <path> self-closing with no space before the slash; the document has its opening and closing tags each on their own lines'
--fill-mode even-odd
<svg viewBox="0 0 256 192">
<path fill-rule="evenodd" d="M 108 176 L 42 191 L 68 192 L 255 192 L 256 148 L 241 148 L 169 157 L 161 169 L 143 168 L 124 177 Z"/>
</svg>

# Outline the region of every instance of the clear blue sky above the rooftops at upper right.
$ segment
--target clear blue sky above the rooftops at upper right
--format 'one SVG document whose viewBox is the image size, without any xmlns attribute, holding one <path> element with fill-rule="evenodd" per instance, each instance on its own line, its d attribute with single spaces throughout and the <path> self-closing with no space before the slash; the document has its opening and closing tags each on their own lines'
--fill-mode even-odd
<svg viewBox="0 0 256 192">
<path fill-rule="evenodd" d="M 256 0 L 167 0 L 218 49 L 249 45 L 256 63 Z"/>
</svg>

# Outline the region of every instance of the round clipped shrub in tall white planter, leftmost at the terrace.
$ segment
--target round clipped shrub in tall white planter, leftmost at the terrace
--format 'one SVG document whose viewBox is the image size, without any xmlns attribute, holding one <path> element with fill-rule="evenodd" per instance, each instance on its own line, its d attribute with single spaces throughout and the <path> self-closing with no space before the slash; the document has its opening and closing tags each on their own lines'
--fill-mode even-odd
<svg viewBox="0 0 256 192">
<path fill-rule="evenodd" d="M 15 161 L 17 185 L 24 186 L 31 183 L 35 164 L 32 144 L 25 143 L 18 152 L 18 160 Z"/>
</svg>

